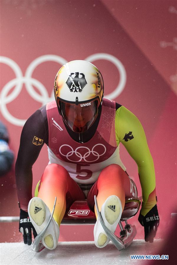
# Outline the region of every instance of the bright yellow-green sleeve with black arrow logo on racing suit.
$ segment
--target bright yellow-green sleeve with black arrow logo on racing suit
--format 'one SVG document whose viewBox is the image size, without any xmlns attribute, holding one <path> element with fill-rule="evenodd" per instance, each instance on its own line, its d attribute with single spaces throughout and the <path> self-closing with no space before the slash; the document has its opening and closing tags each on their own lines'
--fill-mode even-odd
<svg viewBox="0 0 177 265">
<path fill-rule="evenodd" d="M 156 204 L 155 170 L 144 129 L 138 118 L 124 106 L 116 111 L 115 131 L 117 144 L 121 142 L 135 160 L 142 188 L 141 214 L 146 215 Z"/>
</svg>

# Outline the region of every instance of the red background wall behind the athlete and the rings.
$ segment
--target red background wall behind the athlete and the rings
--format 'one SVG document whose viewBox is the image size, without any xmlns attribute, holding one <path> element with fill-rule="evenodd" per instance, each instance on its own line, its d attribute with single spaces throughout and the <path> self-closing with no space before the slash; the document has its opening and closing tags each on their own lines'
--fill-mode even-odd
<svg viewBox="0 0 177 265">
<path fill-rule="evenodd" d="M 15 158 L 22 124 L 53 99 L 61 65 L 101 53 L 90 61 L 103 75 L 105 97 L 117 91 L 112 99 L 130 109 L 145 129 L 156 171 L 157 238 L 163 238 L 176 211 L 176 1 L 4 0 L 0 4 L 1 120 L 9 130 Z M 30 77 L 26 70 L 31 64 Z M 137 166 L 123 147 L 120 151 L 140 195 Z M 47 163 L 43 147 L 33 166 L 33 190 Z M 14 169 L 1 177 L 0 187 L 1 216 L 19 215 Z M 143 238 L 137 216 L 130 223 L 137 227 L 136 238 Z M 93 226 L 62 226 L 60 240 L 93 240 L 92 230 Z M 1 224 L 1 242 L 21 240 L 18 223 Z"/>
</svg>

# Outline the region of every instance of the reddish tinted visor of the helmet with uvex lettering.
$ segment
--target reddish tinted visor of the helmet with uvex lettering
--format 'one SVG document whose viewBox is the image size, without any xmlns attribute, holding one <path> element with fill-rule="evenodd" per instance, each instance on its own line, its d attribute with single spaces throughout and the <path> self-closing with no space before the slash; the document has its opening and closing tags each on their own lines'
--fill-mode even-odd
<svg viewBox="0 0 177 265">
<path fill-rule="evenodd" d="M 82 133 L 89 129 L 98 115 L 98 98 L 76 105 L 59 101 L 61 115 L 68 127 L 77 133 Z"/>
</svg>

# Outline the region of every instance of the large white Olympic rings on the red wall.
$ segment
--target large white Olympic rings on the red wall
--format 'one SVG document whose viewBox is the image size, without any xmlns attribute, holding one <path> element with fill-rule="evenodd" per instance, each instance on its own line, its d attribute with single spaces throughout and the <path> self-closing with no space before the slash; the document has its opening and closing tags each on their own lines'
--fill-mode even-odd
<svg viewBox="0 0 177 265">
<path fill-rule="evenodd" d="M 107 53 L 96 53 L 87 57 L 85 60 L 89 62 L 93 62 L 94 60 L 108 60 L 117 67 L 120 74 L 119 84 L 112 93 L 105 96 L 109 99 L 116 98 L 122 92 L 126 83 L 126 71 L 122 63 L 116 57 Z M 1 90 L 1 113 L 3 114 L 4 118 L 6 118 L 6 120 L 9 121 L 10 123 L 17 126 L 23 126 L 26 120 L 14 117 L 7 109 L 6 104 L 12 102 L 15 98 L 17 98 L 17 96 L 20 94 L 22 90 L 23 84 L 25 84 L 25 87 L 29 95 L 34 100 L 40 102 L 42 105 L 46 104 L 49 101 L 53 101 L 54 100 L 53 90 L 51 95 L 49 96 L 45 86 L 39 80 L 32 78 L 32 73 L 35 70 L 35 68 L 42 62 L 53 61 L 53 62 L 58 62 L 60 65 L 64 65 L 67 61 L 63 57 L 60 57 L 58 55 L 42 55 L 30 63 L 24 76 L 22 74 L 22 70 L 20 69 L 19 65 L 17 65 L 17 63 L 14 62 L 12 59 L 1 56 L 0 61 L 11 67 L 16 75 L 16 78 L 6 83 L 6 85 L 4 85 L 4 87 Z M 37 88 L 40 94 L 35 91 L 33 86 Z M 13 87 L 14 89 L 8 95 L 9 91 Z"/>
</svg>

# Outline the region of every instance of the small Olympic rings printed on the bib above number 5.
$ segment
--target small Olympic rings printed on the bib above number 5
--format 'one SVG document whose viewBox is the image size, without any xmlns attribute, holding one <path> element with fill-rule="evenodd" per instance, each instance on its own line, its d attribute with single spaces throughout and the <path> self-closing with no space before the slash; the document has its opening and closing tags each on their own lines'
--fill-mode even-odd
<svg viewBox="0 0 177 265">
<path fill-rule="evenodd" d="M 103 152 L 102 154 L 99 154 L 98 152 L 94 151 L 94 148 L 95 148 L 96 146 L 98 146 L 98 145 L 99 145 L 99 146 L 101 145 L 101 146 L 104 147 L 104 152 Z M 70 147 L 70 148 L 71 148 L 71 151 L 69 151 L 67 154 L 63 154 L 63 153 L 61 152 L 61 149 L 62 149 L 62 147 L 66 147 L 66 146 Z M 81 149 L 81 148 L 85 148 L 86 150 L 88 150 L 83 156 L 81 155 L 81 153 L 78 152 L 78 149 Z M 106 147 L 104 146 L 104 144 L 95 144 L 94 147 L 90 150 L 89 147 L 86 147 L 86 146 L 79 146 L 79 147 L 77 147 L 76 150 L 74 151 L 73 148 L 72 148 L 70 145 L 68 145 L 68 144 L 63 144 L 63 145 L 60 146 L 59 152 L 60 152 L 61 155 L 63 155 L 64 157 L 66 157 L 66 158 L 67 158 L 69 161 L 71 161 L 71 162 L 81 162 L 82 159 L 83 159 L 85 162 L 95 162 L 95 161 L 97 161 L 97 160 L 99 159 L 99 157 L 101 157 L 102 155 L 104 155 L 104 154 L 106 153 Z M 72 159 L 69 158 L 69 157 L 71 157 L 73 154 L 75 154 L 77 157 L 79 157 L 79 160 L 78 160 L 78 161 L 76 161 L 76 160 L 72 160 Z M 93 155 L 96 157 L 96 159 L 95 159 L 95 160 L 91 160 L 91 161 L 86 160 L 86 157 L 89 157 L 90 154 L 93 154 Z"/>
</svg>

